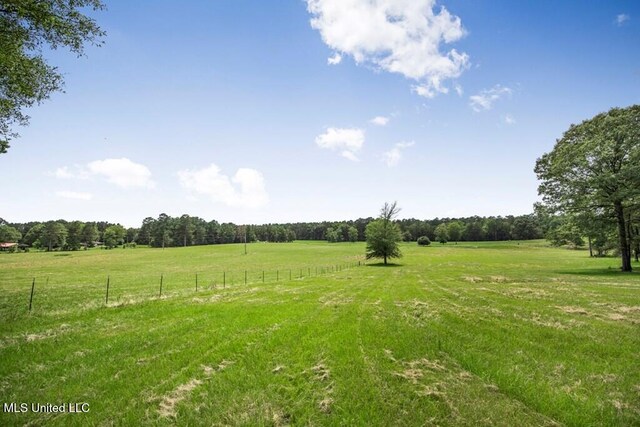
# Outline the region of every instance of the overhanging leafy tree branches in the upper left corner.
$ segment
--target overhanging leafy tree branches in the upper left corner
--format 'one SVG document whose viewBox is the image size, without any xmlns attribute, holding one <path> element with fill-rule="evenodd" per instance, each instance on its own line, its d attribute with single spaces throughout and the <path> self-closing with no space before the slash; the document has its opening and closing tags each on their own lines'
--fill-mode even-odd
<svg viewBox="0 0 640 427">
<path fill-rule="evenodd" d="M 62 90 L 58 69 L 47 64 L 42 49 L 66 47 L 82 55 L 84 44 L 99 44 L 105 34 L 83 8 L 100 10 L 100 0 L 0 1 L 0 153 L 26 126 L 24 109 Z"/>
</svg>

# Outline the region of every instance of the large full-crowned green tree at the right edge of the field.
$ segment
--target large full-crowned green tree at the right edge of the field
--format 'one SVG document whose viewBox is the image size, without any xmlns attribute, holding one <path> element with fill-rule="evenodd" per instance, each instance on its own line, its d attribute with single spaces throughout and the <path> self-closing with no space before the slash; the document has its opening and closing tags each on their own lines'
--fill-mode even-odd
<svg viewBox="0 0 640 427">
<path fill-rule="evenodd" d="M 536 162 L 538 193 L 552 211 L 593 213 L 617 227 L 622 271 L 640 222 L 640 105 L 613 108 L 571 125 Z M 583 230 L 584 231 L 584 230 Z"/>
</svg>

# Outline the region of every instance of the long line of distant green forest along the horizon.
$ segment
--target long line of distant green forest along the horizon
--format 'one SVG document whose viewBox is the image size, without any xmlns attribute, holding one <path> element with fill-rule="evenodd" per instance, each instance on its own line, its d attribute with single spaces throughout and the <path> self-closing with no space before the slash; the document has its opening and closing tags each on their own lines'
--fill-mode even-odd
<svg viewBox="0 0 640 427">
<path fill-rule="evenodd" d="M 374 218 L 349 221 L 298 222 L 287 224 L 236 225 L 206 221 L 182 215 L 145 218 L 139 228 L 124 228 L 106 221 L 47 221 L 8 223 L 0 219 L 0 242 L 19 247 L 47 250 L 79 250 L 96 245 L 113 248 L 122 245 L 153 247 L 213 245 L 247 242 L 291 242 L 327 240 L 364 241 L 364 230 Z M 542 238 L 549 220 L 537 215 L 403 219 L 397 221 L 405 241 L 427 236 L 432 241 L 501 241 Z M 444 225 L 443 225 L 444 224 Z"/>
</svg>

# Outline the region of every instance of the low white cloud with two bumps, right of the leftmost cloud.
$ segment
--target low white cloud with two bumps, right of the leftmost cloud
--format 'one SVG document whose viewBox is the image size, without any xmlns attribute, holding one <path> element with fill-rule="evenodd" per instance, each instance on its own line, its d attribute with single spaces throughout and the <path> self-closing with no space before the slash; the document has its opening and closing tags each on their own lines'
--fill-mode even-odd
<svg viewBox="0 0 640 427">
<path fill-rule="evenodd" d="M 229 179 L 211 163 L 204 169 L 180 171 L 178 178 L 187 190 L 228 206 L 257 208 L 269 201 L 264 177 L 255 169 L 240 168 Z"/>
</svg>

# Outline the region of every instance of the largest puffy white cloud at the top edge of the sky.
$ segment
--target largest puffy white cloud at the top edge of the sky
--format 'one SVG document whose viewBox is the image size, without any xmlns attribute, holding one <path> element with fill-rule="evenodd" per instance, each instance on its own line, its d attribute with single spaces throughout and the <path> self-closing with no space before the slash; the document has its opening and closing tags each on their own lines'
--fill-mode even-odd
<svg viewBox="0 0 640 427">
<path fill-rule="evenodd" d="M 435 9 L 436 0 L 307 0 L 311 26 L 336 52 L 358 64 L 398 73 L 417 82 L 413 91 L 433 98 L 446 80 L 469 67 L 469 57 L 441 43 L 465 36 L 460 18 Z"/>
</svg>

